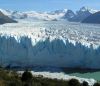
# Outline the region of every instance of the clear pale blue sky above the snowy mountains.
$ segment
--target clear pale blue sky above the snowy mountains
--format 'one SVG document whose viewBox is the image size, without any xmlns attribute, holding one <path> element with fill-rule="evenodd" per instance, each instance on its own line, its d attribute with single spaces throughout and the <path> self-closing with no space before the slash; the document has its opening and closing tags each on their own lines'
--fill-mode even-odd
<svg viewBox="0 0 100 86">
<path fill-rule="evenodd" d="M 86 6 L 100 10 L 100 0 L 0 0 L 0 8 L 17 11 L 53 11 L 71 9 L 76 11 Z"/>
</svg>

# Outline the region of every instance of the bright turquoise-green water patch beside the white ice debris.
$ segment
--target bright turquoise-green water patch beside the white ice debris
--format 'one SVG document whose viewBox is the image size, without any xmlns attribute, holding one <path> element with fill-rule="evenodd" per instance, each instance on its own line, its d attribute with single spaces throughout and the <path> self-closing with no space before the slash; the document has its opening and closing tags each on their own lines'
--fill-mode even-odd
<svg viewBox="0 0 100 86">
<path fill-rule="evenodd" d="M 93 78 L 95 80 L 100 81 L 100 71 L 99 72 L 92 72 L 92 73 L 72 73 L 69 75 L 74 75 L 74 76 L 82 77 L 82 78 Z"/>
</svg>

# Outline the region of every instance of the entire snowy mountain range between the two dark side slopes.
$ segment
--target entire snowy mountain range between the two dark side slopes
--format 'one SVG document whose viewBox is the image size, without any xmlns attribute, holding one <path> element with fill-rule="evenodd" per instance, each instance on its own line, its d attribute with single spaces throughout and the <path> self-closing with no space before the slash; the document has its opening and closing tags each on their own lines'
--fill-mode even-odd
<svg viewBox="0 0 100 86">
<path fill-rule="evenodd" d="M 43 20 L 43 21 L 57 21 L 57 20 L 68 20 L 71 22 L 81 22 L 86 17 L 90 16 L 97 12 L 87 7 L 80 8 L 79 11 L 75 13 L 69 9 L 55 10 L 51 12 L 36 12 L 36 11 L 10 11 L 10 10 L 0 10 L 5 15 L 9 16 L 12 19 L 27 19 L 27 20 Z"/>
</svg>

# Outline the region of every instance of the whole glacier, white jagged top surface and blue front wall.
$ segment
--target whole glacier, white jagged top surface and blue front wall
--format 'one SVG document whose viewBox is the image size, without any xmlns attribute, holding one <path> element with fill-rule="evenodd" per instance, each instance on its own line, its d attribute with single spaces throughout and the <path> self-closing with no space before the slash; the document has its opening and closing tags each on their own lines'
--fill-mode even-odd
<svg viewBox="0 0 100 86">
<path fill-rule="evenodd" d="M 20 21 L 0 25 L 0 64 L 100 69 L 100 25 Z"/>
</svg>

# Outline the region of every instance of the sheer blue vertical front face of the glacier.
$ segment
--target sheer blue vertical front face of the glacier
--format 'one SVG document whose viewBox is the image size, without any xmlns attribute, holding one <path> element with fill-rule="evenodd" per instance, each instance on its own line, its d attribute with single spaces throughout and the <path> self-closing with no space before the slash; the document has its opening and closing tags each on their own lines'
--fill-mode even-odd
<svg viewBox="0 0 100 86">
<path fill-rule="evenodd" d="M 35 45 L 33 45 L 33 40 Z M 46 65 L 56 67 L 100 68 L 100 47 L 94 49 L 79 42 L 49 38 L 31 39 L 27 36 L 0 36 L 1 65 Z"/>
</svg>

